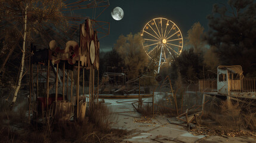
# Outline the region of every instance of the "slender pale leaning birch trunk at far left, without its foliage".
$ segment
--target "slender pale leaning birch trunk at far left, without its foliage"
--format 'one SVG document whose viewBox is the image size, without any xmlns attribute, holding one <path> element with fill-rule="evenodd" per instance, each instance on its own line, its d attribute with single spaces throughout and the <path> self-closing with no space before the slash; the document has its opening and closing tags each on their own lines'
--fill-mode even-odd
<svg viewBox="0 0 256 143">
<path fill-rule="evenodd" d="M 18 86 L 14 92 L 14 97 L 13 97 L 13 102 L 11 103 L 11 108 L 13 108 L 14 103 L 16 102 L 17 99 L 17 94 L 20 89 L 20 84 L 21 84 L 21 79 L 22 79 L 22 74 L 23 74 L 23 69 L 24 69 L 24 57 L 25 57 L 25 46 L 26 46 L 26 35 L 27 35 L 27 4 L 25 8 L 25 20 L 24 20 L 24 36 L 23 36 L 23 47 L 22 47 L 22 58 L 21 58 L 21 67 L 20 67 L 20 75 L 18 76 Z"/>
</svg>

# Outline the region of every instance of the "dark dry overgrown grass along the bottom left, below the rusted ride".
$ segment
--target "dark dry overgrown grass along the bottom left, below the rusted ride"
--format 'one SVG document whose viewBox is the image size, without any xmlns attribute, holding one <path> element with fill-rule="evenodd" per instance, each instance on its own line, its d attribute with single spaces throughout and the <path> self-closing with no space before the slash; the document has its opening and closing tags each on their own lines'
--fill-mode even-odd
<svg viewBox="0 0 256 143">
<path fill-rule="evenodd" d="M 121 142 L 129 133 L 111 128 L 116 116 L 102 102 L 92 105 L 90 117 L 87 115 L 82 123 L 44 125 L 27 123 L 25 107 L 17 112 L 7 110 L 7 105 L 1 107 L 6 110 L 0 112 L 0 142 Z"/>
</svg>

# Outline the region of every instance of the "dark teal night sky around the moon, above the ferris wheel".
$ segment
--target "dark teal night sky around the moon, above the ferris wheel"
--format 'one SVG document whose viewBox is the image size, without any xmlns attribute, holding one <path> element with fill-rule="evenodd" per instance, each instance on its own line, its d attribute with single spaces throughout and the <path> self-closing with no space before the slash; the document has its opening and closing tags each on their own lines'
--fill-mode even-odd
<svg viewBox="0 0 256 143">
<path fill-rule="evenodd" d="M 227 4 L 227 0 L 109 0 L 109 3 L 110 7 L 97 19 L 110 22 L 110 34 L 100 39 L 101 52 L 112 49 L 120 35 L 140 32 L 144 24 L 157 17 L 168 18 L 177 24 L 183 38 L 187 30 L 198 21 L 207 30 L 206 16 L 211 14 L 212 5 Z M 114 20 L 110 14 L 115 7 L 124 10 L 124 18 L 120 21 Z"/>
</svg>

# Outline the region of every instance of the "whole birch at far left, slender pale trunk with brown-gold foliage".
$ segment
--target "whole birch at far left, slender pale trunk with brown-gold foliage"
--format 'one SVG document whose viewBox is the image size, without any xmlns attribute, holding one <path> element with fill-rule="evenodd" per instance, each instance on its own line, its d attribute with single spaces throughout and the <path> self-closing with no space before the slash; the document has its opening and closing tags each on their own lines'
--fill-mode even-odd
<svg viewBox="0 0 256 143">
<path fill-rule="evenodd" d="M 61 9 L 64 7 L 61 0 L 0 0 L 0 26 L 17 29 L 23 38 L 20 73 L 11 107 L 16 102 L 23 77 L 27 39 L 33 41 L 35 35 L 42 35 L 41 30 L 47 24 L 65 27 L 67 20 L 61 13 Z"/>
</svg>

